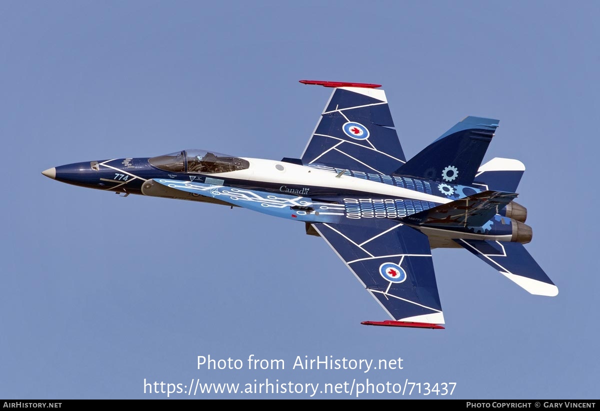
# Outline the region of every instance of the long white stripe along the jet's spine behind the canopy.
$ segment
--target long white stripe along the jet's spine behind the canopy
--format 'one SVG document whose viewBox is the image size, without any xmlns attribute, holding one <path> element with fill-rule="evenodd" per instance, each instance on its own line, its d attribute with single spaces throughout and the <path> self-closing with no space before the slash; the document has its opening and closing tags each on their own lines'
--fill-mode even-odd
<svg viewBox="0 0 600 411">
<path fill-rule="evenodd" d="M 242 157 L 243 158 L 243 157 Z M 359 179 L 342 175 L 336 177 L 337 173 L 320 170 L 304 165 L 291 164 L 281 161 L 265 160 L 260 158 L 244 158 L 250 162 L 250 167 L 245 170 L 229 171 L 227 173 L 211 174 L 232 179 L 248 180 L 254 182 L 274 183 L 278 185 L 295 185 L 310 188 L 313 186 L 339 189 L 341 195 L 345 191 L 362 191 L 365 195 L 389 195 L 390 197 L 409 198 L 411 200 L 431 201 L 433 203 L 450 203 L 445 197 L 425 194 L 407 188 L 392 186 L 371 180 Z M 284 167 L 283 171 L 277 170 L 276 165 Z M 310 197 L 310 192 L 306 197 Z"/>
</svg>

